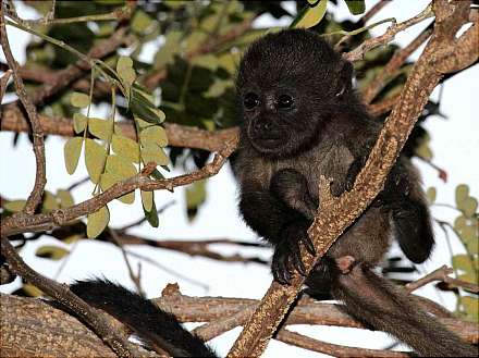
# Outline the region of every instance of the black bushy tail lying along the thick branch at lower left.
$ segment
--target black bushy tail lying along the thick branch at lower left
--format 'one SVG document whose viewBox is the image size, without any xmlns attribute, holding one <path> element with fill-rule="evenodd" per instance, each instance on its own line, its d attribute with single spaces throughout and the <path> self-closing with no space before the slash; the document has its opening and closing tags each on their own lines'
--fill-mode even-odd
<svg viewBox="0 0 479 358">
<path fill-rule="evenodd" d="M 126 324 L 152 348 L 173 357 L 216 357 L 200 338 L 183 329 L 173 314 L 123 286 L 96 279 L 77 281 L 70 289 Z"/>
</svg>

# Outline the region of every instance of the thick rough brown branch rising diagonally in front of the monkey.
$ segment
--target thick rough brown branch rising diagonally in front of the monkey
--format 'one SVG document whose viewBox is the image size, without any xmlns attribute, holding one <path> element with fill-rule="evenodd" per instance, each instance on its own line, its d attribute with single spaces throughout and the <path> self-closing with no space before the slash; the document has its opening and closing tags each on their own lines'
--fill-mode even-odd
<svg viewBox="0 0 479 358">
<path fill-rule="evenodd" d="M 365 168 L 356 178 L 354 188 L 349 193 L 344 193 L 340 198 L 333 198 L 329 190 L 329 182 L 324 177 L 320 180 L 320 208 L 308 231 L 318 254 L 317 257 L 311 257 L 306 250 L 303 250 L 302 257 L 306 274 L 381 190 L 385 176 L 401 152 L 416 120 L 428 101 L 429 95 L 443 74 L 432 65 L 437 59 L 435 52 L 444 46 L 453 47 L 456 32 L 468 21 L 469 2 L 449 3 L 442 0 L 434 3 L 434 10 L 438 8 L 450 10 L 450 14 L 437 17 L 432 38 L 416 62 L 401 94 L 400 101 L 385 122 Z M 418 16 L 390 27 L 388 36 L 394 36 L 398 29 L 410 26 L 430 15 L 431 10 L 428 7 Z M 385 34 L 382 37 L 388 36 Z M 382 41 L 381 38 L 378 40 Z M 376 44 L 376 41 L 369 42 Z M 349 52 L 349 57 L 355 58 L 355 53 L 364 53 L 363 51 L 369 48 L 369 45 L 365 42 L 359 47 L 360 50 L 353 53 L 354 55 Z M 277 282 L 271 284 L 258 309 L 235 342 L 229 357 L 258 357 L 262 354 L 268 341 L 294 301 L 304 280 L 304 276 L 296 273 L 292 279 L 291 286 L 281 286 Z"/>
</svg>

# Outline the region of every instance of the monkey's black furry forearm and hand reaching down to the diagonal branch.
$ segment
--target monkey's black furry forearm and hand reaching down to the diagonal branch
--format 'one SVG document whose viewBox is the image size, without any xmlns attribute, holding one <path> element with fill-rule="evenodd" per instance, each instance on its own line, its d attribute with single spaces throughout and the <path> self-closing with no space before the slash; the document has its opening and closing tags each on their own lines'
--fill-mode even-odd
<svg viewBox="0 0 479 358">
<path fill-rule="evenodd" d="M 271 271 L 278 282 L 288 283 L 292 269 L 305 274 L 299 243 L 315 254 L 307 234 L 310 220 L 255 182 L 243 183 L 240 211 L 254 231 L 274 245 Z"/>
</svg>

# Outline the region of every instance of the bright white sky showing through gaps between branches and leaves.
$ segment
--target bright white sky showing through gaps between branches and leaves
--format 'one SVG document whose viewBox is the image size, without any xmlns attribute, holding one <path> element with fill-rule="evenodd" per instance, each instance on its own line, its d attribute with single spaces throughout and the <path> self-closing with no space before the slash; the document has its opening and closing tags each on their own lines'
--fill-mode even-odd
<svg viewBox="0 0 479 358">
<path fill-rule="evenodd" d="M 367 0 L 367 9 L 370 9 L 376 0 Z M 429 1 L 393 1 L 377 14 L 370 23 L 385 17 L 396 17 L 403 21 L 419 13 Z M 339 1 L 335 15 L 340 18 L 352 17 L 348 14 L 343 1 Z M 291 4 L 288 4 L 290 7 Z M 330 9 L 334 7 L 329 4 Z M 20 13 L 29 18 L 34 13 L 28 9 L 20 7 Z M 358 16 L 353 16 L 358 18 Z M 262 16 L 257 22 L 258 26 L 272 25 L 273 18 Z M 280 21 L 280 25 L 287 25 L 288 18 Z M 414 39 L 427 24 L 419 24 L 409 28 L 406 33 L 401 33 L 396 41 L 402 46 L 407 45 Z M 374 29 L 377 35 L 381 34 L 386 26 L 378 26 Z M 29 35 L 9 27 L 9 38 L 15 59 L 23 63 L 25 61 L 24 49 L 29 39 Z M 417 58 L 418 53 L 413 57 Z M 4 61 L 3 53 L 0 59 Z M 438 188 L 438 202 L 454 203 L 454 188 L 459 183 L 467 183 L 470 186 L 471 195 L 479 196 L 479 122 L 477 115 L 472 114 L 472 103 L 479 92 L 478 82 L 479 69 L 475 66 L 468 71 L 456 75 L 450 79 L 443 91 L 441 111 L 449 116 L 449 120 L 431 116 L 426 123 L 430 131 L 432 140 L 431 149 L 434 153 L 434 163 L 447 171 L 449 181 L 443 183 L 438 178 L 437 172 L 421 162 L 418 164 L 425 186 L 435 186 Z M 476 95 L 474 95 L 476 94 Z M 433 94 L 437 96 L 437 91 Z M 11 98 L 9 99 L 11 100 Z M 19 145 L 12 147 L 12 133 L 0 133 L 0 193 L 10 199 L 26 198 L 33 187 L 35 175 L 35 161 L 30 146 L 25 138 L 21 137 Z M 76 173 L 70 176 L 63 164 L 64 139 L 51 136 L 47 139 L 47 189 L 54 192 L 58 188 L 65 188 L 85 177 L 86 170 L 81 162 Z M 179 173 L 172 173 L 175 175 Z M 76 202 L 89 197 L 93 186 L 86 184 L 74 190 Z M 170 200 L 175 200 L 175 205 L 168 209 L 160 217 L 160 227 L 152 229 L 148 224 L 136 227 L 133 233 L 158 239 L 200 239 L 214 237 L 231 237 L 238 239 L 255 240 L 256 234 L 253 233 L 241 221 L 236 210 L 237 190 L 229 166 L 208 182 L 208 199 L 201 207 L 193 223 L 188 223 L 184 209 L 184 188 L 176 188 L 174 194 L 156 193 L 157 207 L 161 207 Z M 111 225 L 118 227 L 130 223 L 143 215 L 139 200 L 134 205 L 126 206 L 120 202 L 109 205 L 111 213 Z M 456 213 L 450 209 L 433 207 L 432 213 L 435 218 L 452 221 Z M 450 263 L 447 247 L 442 232 L 437 229 L 438 246 L 433 257 L 425 264 L 419 266 L 421 272 L 431 271 L 443 263 Z M 453 237 L 453 242 L 454 236 Z M 34 252 L 38 246 L 60 245 L 72 249 L 69 245 L 63 245 L 56 239 L 45 238 L 28 244 L 22 251 L 25 261 L 42 274 L 56 276 L 62 262 L 53 262 L 36 258 Z M 161 266 L 180 272 L 195 281 L 207 285 L 195 285 L 177 275 L 164 272 L 155 268 L 150 263 L 142 263 L 142 284 L 148 296 L 159 296 L 167 283 L 177 282 L 183 294 L 191 296 L 226 296 L 226 297 L 248 297 L 261 298 L 271 283 L 269 268 L 255 263 L 221 263 L 202 258 L 191 258 L 175 251 L 150 249 L 145 247 L 127 247 L 128 250 L 144 255 L 159 262 Z M 220 247 L 224 254 L 235 254 L 231 247 Z M 454 244 L 456 252 L 462 250 L 460 245 Z M 263 258 L 270 256 L 268 250 L 245 249 L 241 251 L 245 255 L 260 255 Z M 138 260 L 131 258 L 134 268 L 137 268 Z M 128 279 L 126 267 L 119 249 L 112 245 L 96 243 L 95 240 L 82 242 L 74 248 L 69 261 L 64 266 L 60 275 L 60 282 L 71 282 L 74 279 L 84 279 L 94 275 L 105 275 L 116 280 L 123 285 L 133 288 Z M 10 285 L 0 287 L 1 292 L 11 292 L 20 285 L 19 280 Z M 453 297 L 438 294 L 431 287 L 425 287 L 421 294 L 445 304 L 450 309 L 454 309 Z M 347 343 L 349 345 L 365 347 L 384 347 L 392 341 L 382 333 L 361 332 L 353 329 L 319 328 L 307 325 L 295 325 L 293 330 L 307 333 L 310 336 L 333 343 Z M 240 329 L 223 334 L 212 341 L 212 346 L 217 351 L 224 356 L 237 334 Z M 308 350 L 272 341 L 265 354 L 265 357 L 319 357 L 321 355 Z"/>
</svg>

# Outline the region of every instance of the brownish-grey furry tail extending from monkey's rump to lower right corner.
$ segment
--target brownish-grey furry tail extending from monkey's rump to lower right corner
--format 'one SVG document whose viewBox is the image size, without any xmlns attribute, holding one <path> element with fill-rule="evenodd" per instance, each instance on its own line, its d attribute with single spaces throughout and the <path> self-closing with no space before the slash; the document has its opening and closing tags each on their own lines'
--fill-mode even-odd
<svg viewBox="0 0 479 358">
<path fill-rule="evenodd" d="M 396 336 L 421 356 L 478 357 L 477 347 L 447 331 L 413 297 L 374 274 L 367 264 L 356 264 L 348 274 L 336 277 L 333 297 L 366 325 Z"/>
</svg>

